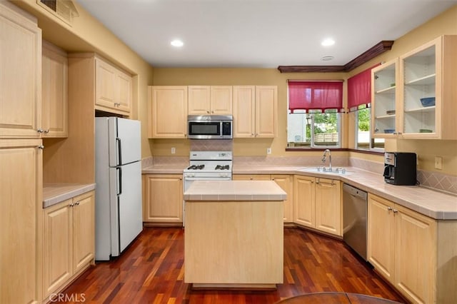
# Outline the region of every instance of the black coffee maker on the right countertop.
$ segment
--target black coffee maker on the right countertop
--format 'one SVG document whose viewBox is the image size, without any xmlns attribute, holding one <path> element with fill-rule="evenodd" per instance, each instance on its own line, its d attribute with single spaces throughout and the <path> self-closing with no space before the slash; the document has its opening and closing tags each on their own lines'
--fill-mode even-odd
<svg viewBox="0 0 457 304">
<path fill-rule="evenodd" d="M 416 153 L 384 153 L 384 181 L 392 185 L 416 185 Z"/>
</svg>

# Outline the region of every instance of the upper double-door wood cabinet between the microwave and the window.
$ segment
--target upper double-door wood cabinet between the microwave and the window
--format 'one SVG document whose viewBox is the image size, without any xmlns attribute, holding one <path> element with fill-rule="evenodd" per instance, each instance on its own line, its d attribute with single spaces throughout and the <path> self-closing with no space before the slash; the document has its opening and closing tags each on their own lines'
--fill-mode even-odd
<svg viewBox="0 0 457 304">
<path fill-rule="evenodd" d="M 277 86 L 233 86 L 233 137 L 276 137 L 277 113 Z"/>
</svg>

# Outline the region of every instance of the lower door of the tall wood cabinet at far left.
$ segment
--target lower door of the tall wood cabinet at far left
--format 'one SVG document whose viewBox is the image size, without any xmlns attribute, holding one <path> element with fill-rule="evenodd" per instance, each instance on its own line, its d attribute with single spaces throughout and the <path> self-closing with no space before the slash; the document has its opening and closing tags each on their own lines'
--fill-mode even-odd
<svg viewBox="0 0 457 304">
<path fill-rule="evenodd" d="M 42 275 L 43 153 L 39 145 L 41 139 L 0 141 L 0 303 L 41 300 L 37 278 Z"/>
</svg>

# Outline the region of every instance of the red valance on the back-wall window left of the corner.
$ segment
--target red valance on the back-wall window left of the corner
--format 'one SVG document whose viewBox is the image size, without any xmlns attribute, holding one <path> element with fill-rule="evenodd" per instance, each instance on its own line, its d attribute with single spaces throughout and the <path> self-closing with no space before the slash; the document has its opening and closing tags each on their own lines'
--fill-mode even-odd
<svg viewBox="0 0 457 304">
<path fill-rule="evenodd" d="M 288 108 L 295 110 L 321 110 L 343 108 L 343 82 L 341 81 L 288 81 Z"/>
</svg>

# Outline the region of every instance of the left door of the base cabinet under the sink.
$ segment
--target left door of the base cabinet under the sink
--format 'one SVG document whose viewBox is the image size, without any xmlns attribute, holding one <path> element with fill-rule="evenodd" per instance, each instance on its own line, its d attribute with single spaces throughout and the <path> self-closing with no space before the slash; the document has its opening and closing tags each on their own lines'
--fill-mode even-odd
<svg viewBox="0 0 457 304">
<path fill-rule="evenodd" d="M 314 228 L 316 226 L 316 205 L 314 178 L 311 176 L 293 177 L 294 222 Z"/>
</svg>

